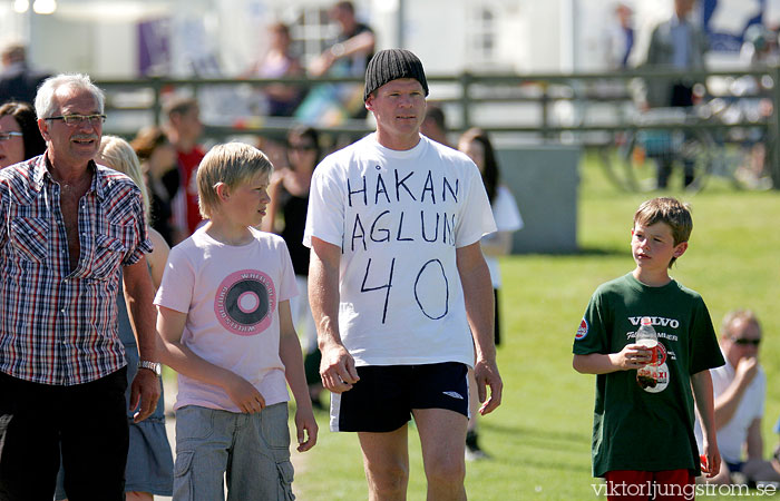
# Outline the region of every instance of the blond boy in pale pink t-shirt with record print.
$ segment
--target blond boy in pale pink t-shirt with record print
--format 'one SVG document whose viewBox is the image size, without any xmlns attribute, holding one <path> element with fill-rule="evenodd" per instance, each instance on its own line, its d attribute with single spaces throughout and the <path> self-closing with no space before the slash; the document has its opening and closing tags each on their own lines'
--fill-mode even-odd
<svg viewBox="0 0 780 501">
<path fill-rule="evenodd" d="M 290 313 L 298 294 L 284 240 L 254 229 L 273 166 L 248 145 L 212 148 L 197 171 L 208 219 L 174 247 L 157 292 L 160 358 L 176 370 L 174 499 L 291 500 L 287 390 L 299 451 L 318 426 Z"/>
</svg>

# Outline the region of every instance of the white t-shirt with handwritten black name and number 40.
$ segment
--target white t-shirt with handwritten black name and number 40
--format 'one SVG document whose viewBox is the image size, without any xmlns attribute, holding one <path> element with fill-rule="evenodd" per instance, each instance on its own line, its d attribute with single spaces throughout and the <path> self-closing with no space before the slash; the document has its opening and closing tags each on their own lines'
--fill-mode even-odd
<svg viewBox="0 0 780 501">
<path fill-rule="evenodd" d="M 304 245 L 341 248 L 339 330 L 358 365 L 474 363 L 456 249 L 496 230 L 479 171 L 420 137 L 371 134 L 314 170 Z"/>
</svg>

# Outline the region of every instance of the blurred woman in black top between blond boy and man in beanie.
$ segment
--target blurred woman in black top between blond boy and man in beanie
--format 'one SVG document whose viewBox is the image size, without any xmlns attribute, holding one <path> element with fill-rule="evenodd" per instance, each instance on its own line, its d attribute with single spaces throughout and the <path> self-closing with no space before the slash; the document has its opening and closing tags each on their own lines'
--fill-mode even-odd
<svg viewBox="0 0 780 501">
<path fill-rule="evenodd" d="M 309 188 L 314 167 L 322 156 L 320 134 L 309 126 L 299 126 L 287 134 L 287 168 L 274 171 L 269 187 L 271 203 L 263 229 L 274 232 L 284 238 L 292 258 L 299 291 L 309 287 L 309 247 L 303 245 L 303 230 L 306 224 Z M 281 216 L 281 217 L 277 217 Z M 323 409 L 320 380 L 320 350 L 316 346 L 316 327 L 309 305 L 309 295 L 300 294 L 290 301 L 295 332 L 303 334 L 304 369 L 309 395 L 314 409 Z"/>
</svg>

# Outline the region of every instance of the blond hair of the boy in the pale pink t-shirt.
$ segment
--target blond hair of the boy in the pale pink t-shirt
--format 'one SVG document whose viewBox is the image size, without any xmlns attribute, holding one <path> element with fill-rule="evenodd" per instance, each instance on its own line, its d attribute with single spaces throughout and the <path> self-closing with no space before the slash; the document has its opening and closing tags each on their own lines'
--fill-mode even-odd
<svg viewBox="0 0 780 501">
<path fill-rule="evenodd" d="M 214 146 L 197 168 L 197 195 L 201 216 L 209 219 L 220 207 L 216 187 L 235 188 L 259 174 L 271 175 L 273 165 L 265 154 L 244 143 Z"/>
</svg>

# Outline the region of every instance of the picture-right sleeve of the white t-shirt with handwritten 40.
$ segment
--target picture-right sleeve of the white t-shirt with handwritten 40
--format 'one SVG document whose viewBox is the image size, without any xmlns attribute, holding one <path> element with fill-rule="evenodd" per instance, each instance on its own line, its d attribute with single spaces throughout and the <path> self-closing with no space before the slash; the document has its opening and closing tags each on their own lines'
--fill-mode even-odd
<svg viewBox="0 0 780 501">
<path fill-rule="evenodd" d="M 471 245 L 496 230 L 493 209 L 479 170 L 474 163 L 466 168 L 467 175 L 464 177 L 467 178 L 467 193 L 456 224 L 456 247 Z"/>
</svg>

